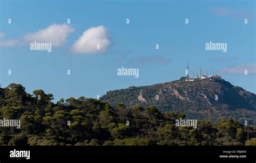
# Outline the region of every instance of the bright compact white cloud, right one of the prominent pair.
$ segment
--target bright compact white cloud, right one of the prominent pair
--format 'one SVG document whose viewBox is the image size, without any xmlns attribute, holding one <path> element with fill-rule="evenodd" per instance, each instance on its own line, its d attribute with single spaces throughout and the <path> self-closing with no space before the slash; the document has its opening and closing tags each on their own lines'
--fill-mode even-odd
<svg viewBox="0 0 256 163">
<path fill-rule="evenodd" d="M 97 49 L 97 45 L 99 45 L 99 49 Z M 101 25 L 84 31 L 72 45 L 70 51 L 75 54 L 105 52 L 109 45 L 110 40 L 107 38 L 106 28 Z"/>
</svg>

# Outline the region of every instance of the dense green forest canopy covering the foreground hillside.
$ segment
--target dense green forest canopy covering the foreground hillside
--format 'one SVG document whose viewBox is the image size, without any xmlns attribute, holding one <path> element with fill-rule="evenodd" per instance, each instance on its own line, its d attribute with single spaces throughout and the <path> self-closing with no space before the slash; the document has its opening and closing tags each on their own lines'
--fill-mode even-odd
<svg viewBox="0 0 256 163">
<path fill-rule="evenodd" d="M 1 145 L 256 145 L 248 127 L 232 118 L 177 127 L 185 114 L 156 107 L 127 108 L 93 98 L 70 97 L 52 103 L 43 90 L 26 93 L 21 84 L 0 88 L 0 119 L 20 119 L 21 128 L 0 127 Z"/>
</svg>

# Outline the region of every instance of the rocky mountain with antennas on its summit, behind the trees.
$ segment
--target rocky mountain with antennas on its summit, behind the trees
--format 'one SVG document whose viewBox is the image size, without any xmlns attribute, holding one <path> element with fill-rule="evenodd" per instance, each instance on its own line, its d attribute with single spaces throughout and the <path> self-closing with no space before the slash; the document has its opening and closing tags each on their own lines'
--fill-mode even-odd
<svg viewBox="0 0 256 163">
<path fill-rule="evenodd" d="M 153 105 L 161 112 L 183 112 L 191 119 L 219 122 L 232 117 L 256 125 L 256 95 L 224 79 L 186 81 L 181 77 L 172 82 L 108 91 L 100 100 L 112 106 Z"/>
</svg>

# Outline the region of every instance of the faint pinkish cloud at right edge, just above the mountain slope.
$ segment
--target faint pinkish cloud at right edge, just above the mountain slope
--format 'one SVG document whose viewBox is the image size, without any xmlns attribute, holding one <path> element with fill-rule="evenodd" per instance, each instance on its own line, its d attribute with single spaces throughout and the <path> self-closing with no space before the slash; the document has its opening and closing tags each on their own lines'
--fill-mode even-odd
<svg viewBox="0 0 256 163">
<path fill-rule="evenodd" d="M 244 74 L 245 70 L 247 70 L 248 74 L 256 73 L 256 64 L 255 63 L 247 63 L 245 65 L 234 66 L 230 68 L 220 69 L 219 72 L 223 74 Z"/>
</svg>

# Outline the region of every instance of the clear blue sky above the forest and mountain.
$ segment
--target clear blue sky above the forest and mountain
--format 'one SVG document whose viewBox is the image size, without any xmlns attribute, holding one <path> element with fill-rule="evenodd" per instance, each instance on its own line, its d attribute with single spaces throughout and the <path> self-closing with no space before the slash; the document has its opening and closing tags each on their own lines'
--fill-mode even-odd
<svg viewBox="0 0 256 163">
<path fill-rule="evenodd" d="M 255 1 L 0 2 L 2 87 L 19 83 L 28 93 L 43 89 L 55 102 L 96 98 L 109 90 L 178 80 L 185 76 L 188 61 L 190 75 L 199 73 L 201 66 L 204 74 L 214 72 L 256 93 Z M 66 37 L 44 32 L 57 27 L 65 29 Z M 97 36 L 87 44 L 104 40 L 102 51 L 90 53 L 85 51 L 90 45 L 79 44 L 90 33 Z M 52 51 L 30 51 L 35 38 L 55 39 Z M 227 52 L 206 51 L 210 41 L 227 43 Z M 121 67 L 139 68 L 139 77 L 118 76 Z"/>
</svg>

